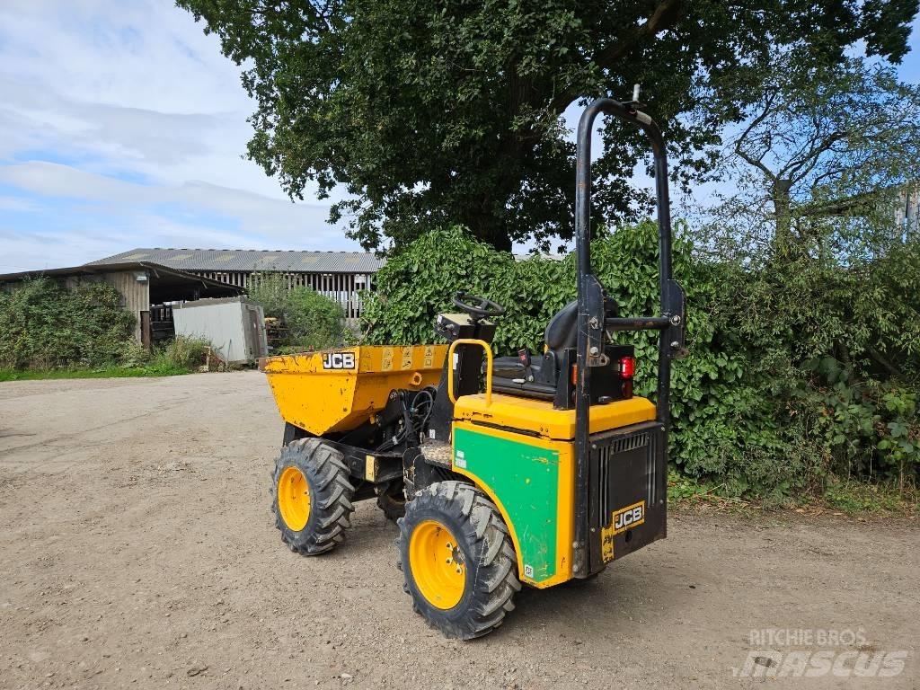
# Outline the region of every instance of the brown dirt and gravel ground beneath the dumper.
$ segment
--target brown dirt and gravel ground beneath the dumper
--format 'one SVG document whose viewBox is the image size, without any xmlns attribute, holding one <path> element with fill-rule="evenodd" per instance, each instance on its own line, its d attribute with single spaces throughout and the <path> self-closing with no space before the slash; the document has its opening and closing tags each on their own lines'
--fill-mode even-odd
<svg viewBox="0 0 920 690">
<path fill-rule="evenodd" d="M 523 592 L 462 643 L 412 613 L 372 503 L 332 554 L 282 546 L 281 435 L 255 372 L 0 384 L 0 688 L 920 686 L 916 523 L 673 516 L 667 540 Z M 865 640 L 752 645 L 752 628 Z M 789 649 L 907 656 L 884 680 L 732 675 Z"/>
</svg>

